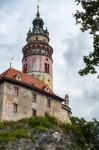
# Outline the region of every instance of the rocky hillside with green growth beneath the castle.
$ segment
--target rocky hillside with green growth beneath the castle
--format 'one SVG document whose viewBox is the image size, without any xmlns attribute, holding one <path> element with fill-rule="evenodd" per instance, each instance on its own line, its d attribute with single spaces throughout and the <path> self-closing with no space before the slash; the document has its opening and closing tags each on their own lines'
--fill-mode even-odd
<svg viewBox="0 0 99 150">
<path fill-rule="evenodd" d="M 95 135 L 99 122 L 79 118 L 71 121 L 72 124 L 63 124 L 45 115 L 0 123 L 0 150 L 98 150 L 99 138 Z"/>
</svg>

